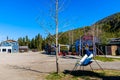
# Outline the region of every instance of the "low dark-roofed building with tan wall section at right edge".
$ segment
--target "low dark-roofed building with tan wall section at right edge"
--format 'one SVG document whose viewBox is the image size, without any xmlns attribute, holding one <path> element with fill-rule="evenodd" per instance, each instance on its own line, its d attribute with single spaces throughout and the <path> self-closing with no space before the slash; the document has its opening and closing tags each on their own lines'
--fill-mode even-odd
<svg viewBox="0 0 120 80">
<path fill-rule="evenodd" d="M 100 50 L 98 55 L 120 55 L 120 38 L 111 38 L 106 45 L 98 44 L 97 47 Z"/>
</svg>

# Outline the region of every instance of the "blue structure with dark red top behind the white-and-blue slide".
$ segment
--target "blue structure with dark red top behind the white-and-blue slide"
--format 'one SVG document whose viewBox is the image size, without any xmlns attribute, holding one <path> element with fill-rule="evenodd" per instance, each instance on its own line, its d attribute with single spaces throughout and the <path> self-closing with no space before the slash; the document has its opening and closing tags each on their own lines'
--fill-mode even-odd
<svg viewBox="0 0 120 80">
<path fill-rule="evenodd" d="M 93 35 L 90 34 L 83 35 L 80 39 L 77 39 L 75 41 L 75 50 L 77 53 L 84 53 L 84 49 L 86 48 L 86 46 L 88 46 L 90 51 L 94 50 L 94 52 L 96 53 L 95 44 L 99 41 L 100 40 L 96 36 L 93 37 Z"/>
</svg>

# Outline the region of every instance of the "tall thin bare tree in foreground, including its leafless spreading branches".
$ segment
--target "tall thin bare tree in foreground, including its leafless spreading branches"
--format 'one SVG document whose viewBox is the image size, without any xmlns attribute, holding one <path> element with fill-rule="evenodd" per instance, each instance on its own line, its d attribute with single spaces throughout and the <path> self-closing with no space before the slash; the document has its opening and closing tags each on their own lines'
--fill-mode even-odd
<svg viewBox="0 0 120 80">
<path fill-rule="evenodd" d="M 44 20 L 40 20 L 40 16 L 37 17 L 36 21 L 37 23 L 40 25 L 40 27 L 42 27 L 42 29 L 44 29 L 48 34 L 50 34 L 52 36 L 52 40 L 55 40 L 55 44 L 56 44 L 56 72 L 59 73 L 59 58 L 58 58 L 58 28 L 59 28 L 59 12 L 63 11 L 64 5 L 66 0 L 50 0 L 50 10 L 49 10 L 49 18 L 53 20 L 53 22 L 50 22 L 47 24 L 52 30 L 54 30 L 53 28 L 55 28 L 55 36 L 52 36 L 52 33 L 50 32 L 50 30 L 48 29 L 48 27 L 46 28 L 45 24 L 47 23 L 47 21 L 44 22 Z M 60 5 L 59 5 L 60 4 Z M 53 24 L 54 23 L 54 24 Z M 55 26 L 55 27 L 54 27 Z M 68 23 L 64 24 L 63 27 L 68 26 Z M 52 31 L 54 32 L 54 31 Z"/>
</svg>

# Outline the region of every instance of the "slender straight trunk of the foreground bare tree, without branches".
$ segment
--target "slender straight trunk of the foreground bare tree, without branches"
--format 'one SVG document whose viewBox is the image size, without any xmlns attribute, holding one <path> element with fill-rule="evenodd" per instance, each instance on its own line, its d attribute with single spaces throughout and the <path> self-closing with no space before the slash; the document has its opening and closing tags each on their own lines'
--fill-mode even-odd
<svg viewBox="0 0 120 80">
<path fill-rule="evenodd" d="M 56 24 L 56 71 L 59 73 L 58 63 L 58 0 L 55 2 L 55 24 Z"/>
</svg>

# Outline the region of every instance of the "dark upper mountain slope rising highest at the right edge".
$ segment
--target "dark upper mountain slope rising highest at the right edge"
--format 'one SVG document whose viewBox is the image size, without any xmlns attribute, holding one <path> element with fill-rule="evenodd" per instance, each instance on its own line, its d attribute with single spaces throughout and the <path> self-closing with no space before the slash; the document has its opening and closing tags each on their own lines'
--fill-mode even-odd
<svg viewBox="0 0 120 80">
<path fill-rule="evenodd" d="M 115 32 L 120 30 L 120 12 L 108 16 L 96 24 L 102 25 L 103 30 L 108 32 Z"/>
</svg>

